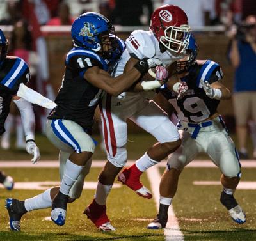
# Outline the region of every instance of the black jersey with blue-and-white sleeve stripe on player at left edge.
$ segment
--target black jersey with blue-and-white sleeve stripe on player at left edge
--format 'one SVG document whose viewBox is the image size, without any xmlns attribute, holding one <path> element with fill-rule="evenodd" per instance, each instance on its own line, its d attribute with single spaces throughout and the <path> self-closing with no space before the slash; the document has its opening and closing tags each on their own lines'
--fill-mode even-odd
<svg viewBox="0 0 256 241">
<path fill-rule="evenodd" d="M 29 82 L 29 68 L 26 62 L 14 56 L 7 56 L 0 66 L 0 135 L 10 111 L 12 96 L 16 95 L 21 83 Z"/>
</svg>

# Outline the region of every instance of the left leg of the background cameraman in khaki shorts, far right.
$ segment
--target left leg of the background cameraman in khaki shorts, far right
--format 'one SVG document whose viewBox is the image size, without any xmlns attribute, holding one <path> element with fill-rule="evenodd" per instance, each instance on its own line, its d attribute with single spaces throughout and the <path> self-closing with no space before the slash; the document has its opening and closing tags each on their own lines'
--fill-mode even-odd
<svg viewBox="0 0 256 241">
<path fill-rule="evenodd" d="M 234 93 L 234 114 L 236 117 L 236 134 L 239 143 L 239 157 L 241 159 L 248 159 L 246 148 L 247 139 L 247 120 L 250 111 L 248 93 Z"/>
</svg>

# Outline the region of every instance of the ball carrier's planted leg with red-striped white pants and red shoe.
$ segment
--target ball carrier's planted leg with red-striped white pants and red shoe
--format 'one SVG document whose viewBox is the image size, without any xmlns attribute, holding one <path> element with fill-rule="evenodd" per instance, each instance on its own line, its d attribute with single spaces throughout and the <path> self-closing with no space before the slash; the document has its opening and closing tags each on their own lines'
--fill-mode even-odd
<svg viewBox="0 0 256 241">
<path fill-rule="evenodd" d="M 110 101 L 111 103 L 109 103 Z M 117 104 L 118 102 L 120 104 Z M 94 199 L 86 207 L 84 214 L 100 230 L 115 231 L 106 214 L 106 200 L 116 175 L 127 161 L 127 123 L 125 116 L 131 111 L 131 106 L 129 108 L 122 100 L 110 98 L 110 96 L 106 96 L 102 103 L 103 107 L 100 107 L 100 111 L 108 161 L 100 172 Z M 119 110 L 120 108 L 121 110 Z"/>
</svg>

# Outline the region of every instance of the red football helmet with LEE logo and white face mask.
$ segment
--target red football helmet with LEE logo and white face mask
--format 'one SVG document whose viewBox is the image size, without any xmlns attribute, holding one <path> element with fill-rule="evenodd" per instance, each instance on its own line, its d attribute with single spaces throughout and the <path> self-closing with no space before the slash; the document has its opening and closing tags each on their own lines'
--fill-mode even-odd
<svg viewBox="0 0 256 241">
<path fill-rule="evenodd" d="M 150 29 L 166 49 L 181 54 L 189 44 L 191 29 L 186 13 L 174 5 L 157 8 L 151 16 Z"/>
</svg>

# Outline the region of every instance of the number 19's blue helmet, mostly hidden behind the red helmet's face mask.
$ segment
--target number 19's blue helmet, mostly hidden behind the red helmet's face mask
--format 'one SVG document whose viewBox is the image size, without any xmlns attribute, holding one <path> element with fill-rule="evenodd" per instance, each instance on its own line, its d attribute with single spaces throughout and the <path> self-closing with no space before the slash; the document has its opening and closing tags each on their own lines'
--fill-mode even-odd
<svg viewBox="0 0 256 241">
<path fill-rule="evenodd" d="M 178 74 L 189 72 L 191 68 L 196 64 L 196 57 L 198 54 L 198 46 L 193 35 L 189 37 L 189 45 L 186 48 L 186 60 L 177 61 L 177 72 Z"/>
</svg>

